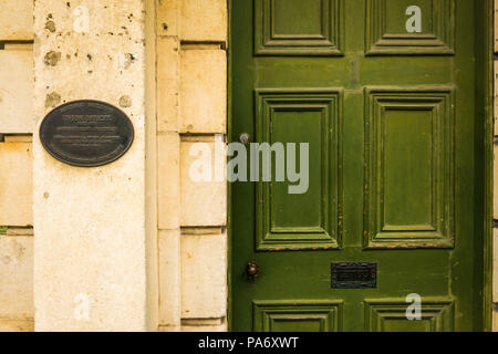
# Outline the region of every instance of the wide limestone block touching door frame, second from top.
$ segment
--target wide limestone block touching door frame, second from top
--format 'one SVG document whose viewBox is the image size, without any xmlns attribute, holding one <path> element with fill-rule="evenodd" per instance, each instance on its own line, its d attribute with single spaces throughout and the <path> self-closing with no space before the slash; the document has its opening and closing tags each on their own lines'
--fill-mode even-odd
<svg viewBox="0 0 498 354">
<path fill-rule="evenodd" d="M 222 50 L 180 54 L 181 133 L 225 133 L 227 55 Z"/>
</svg>

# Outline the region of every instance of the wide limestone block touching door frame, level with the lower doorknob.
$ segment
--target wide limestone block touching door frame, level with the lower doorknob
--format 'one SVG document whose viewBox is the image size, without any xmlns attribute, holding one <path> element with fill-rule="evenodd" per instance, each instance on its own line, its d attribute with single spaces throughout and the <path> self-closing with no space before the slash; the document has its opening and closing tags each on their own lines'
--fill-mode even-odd
<svg viewBox="0 0 498 354">
<path fill-rule="evenodd" d="M 226 235 L 183 235 L 181 317 L 224 317 L 226 309 Z"/>
</svg>

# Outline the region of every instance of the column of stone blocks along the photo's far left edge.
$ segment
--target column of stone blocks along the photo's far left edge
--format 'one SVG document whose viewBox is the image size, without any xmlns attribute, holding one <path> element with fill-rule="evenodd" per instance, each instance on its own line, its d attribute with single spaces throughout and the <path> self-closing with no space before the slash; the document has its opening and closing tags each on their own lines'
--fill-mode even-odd
<svg viewBox="0 0 498 354">
<path fill-rule="evenodd" d="M 0 9 L 0 331 L 33 330 L 33 1 Z"/>
</svg>

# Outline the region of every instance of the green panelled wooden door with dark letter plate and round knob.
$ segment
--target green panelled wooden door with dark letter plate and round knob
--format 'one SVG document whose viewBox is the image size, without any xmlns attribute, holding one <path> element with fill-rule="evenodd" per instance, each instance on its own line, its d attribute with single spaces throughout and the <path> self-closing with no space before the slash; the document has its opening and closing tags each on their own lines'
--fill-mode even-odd
<svg viewBox="0 0 498 354">
<path fill-rule="evenodd" d="M 474 2 L 232 1 L 232 139 L 310 158 L 232 184 L 231 330 L 481 330 Z"/>
</svg>

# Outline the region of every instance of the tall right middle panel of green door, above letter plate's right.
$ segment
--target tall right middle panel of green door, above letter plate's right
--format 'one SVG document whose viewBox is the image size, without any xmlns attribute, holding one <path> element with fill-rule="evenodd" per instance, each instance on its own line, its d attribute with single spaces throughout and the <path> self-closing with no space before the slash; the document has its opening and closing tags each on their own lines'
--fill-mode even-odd
<svg viewBox="0 0 498 354">
<path fill-rule="evenodd" d="M 453 90 L 366 88 L 365 96 L 365 243 L 453 247 Z"/>
</svg>

